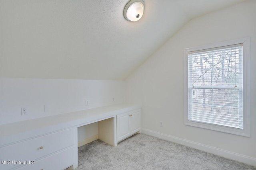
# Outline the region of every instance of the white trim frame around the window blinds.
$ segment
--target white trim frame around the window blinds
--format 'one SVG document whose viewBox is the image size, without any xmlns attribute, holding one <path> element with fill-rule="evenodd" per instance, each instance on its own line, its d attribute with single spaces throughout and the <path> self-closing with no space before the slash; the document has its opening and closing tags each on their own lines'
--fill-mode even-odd
<svg viewBox="0 0 256 170">
<path fill-rule="evenodd" d="M 243 129 L 188 121 L 188 52 L 243 43 Z M 184 49 L 184 124 L 250 137 L 250 37 Z"/>
</svg>

